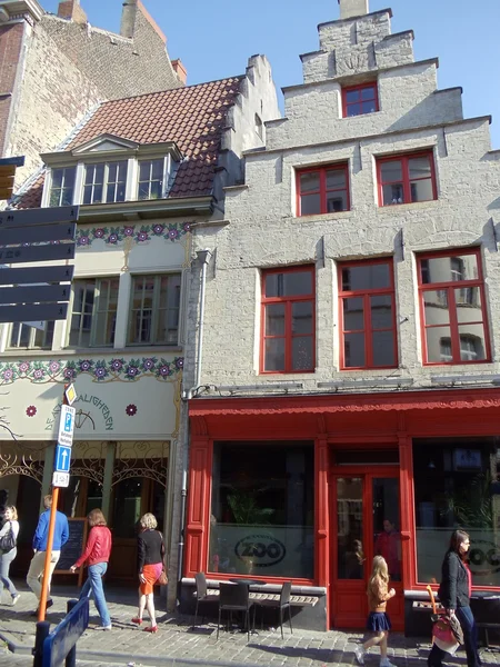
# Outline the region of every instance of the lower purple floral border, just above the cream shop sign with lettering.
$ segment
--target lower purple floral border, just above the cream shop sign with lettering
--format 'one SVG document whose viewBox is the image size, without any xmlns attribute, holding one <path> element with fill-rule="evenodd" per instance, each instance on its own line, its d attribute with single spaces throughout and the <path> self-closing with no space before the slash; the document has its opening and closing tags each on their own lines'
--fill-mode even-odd
<svg viewBox="0 0 500 667">
<path fill-rule="evenodd" d="M 3 361 L 0 362 L 0 385 L 11 385 L 16 380 L 27 379 L 31 382 L 71 382 L 79 375 L 92 376 L 94 382 L 116 380 L 136 381 L 142 377 L 171 381 L 182 371 L 183 357 L 157 359 L 142 357 L 124 359 L 113 357 L 106 359 L 78 359 L 78 361 Z"/>
</svg>

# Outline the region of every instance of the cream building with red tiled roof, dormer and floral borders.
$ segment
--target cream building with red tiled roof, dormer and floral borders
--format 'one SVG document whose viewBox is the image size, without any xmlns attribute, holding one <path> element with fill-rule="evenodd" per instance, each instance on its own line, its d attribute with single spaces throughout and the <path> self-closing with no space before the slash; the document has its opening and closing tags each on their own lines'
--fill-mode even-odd
<svg viewBox="0 0 500 667">
<path fill-rule="evenodd" d="M 223 188 L 241 181 L 242 151 L 262 146 L 263 122 L 278 115 L 269 63 L 253 56 L 240 77 L 100 104 L 61 150 L 41 156 L 43 175 L 18 193 L 19 208 L 80 205 L 68 319 L 3 325 L 0 336 L 3 416 L 18 436 L 6 431 L 0 442 L 0 490 L 19 509 L 18 574 L 72 381 L 71 480 L 59 509 L 86 517 L 103 508 L 109 577 L 133 586 L 134 525 L 152 511 L 176 583 L 192 230 L 223 218 Z"/>
</svg>

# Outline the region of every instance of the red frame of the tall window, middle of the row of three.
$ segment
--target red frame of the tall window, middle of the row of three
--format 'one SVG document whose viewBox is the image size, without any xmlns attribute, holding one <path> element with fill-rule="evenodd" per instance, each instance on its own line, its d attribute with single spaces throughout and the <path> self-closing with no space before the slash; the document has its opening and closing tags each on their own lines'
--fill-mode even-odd
<svg viewBox="0 0 500 667">
<path fill-rule="evenodd" d="M 359 267 L 359 266 L 374 266 L 374 265 L 388 265 L 389 267 L 389 276 L 390 276 L 390 285 L 384 288 L 373 288 L 373 289 L 352 289 L 352 290 L 343 290 L 342 289 L 342 269 L 349 267 Z M 348 261 L 339 265 L 338 268 L 338 280 L 339 280 L 339 318 L 340 318 L 340 370 L 379 370 L 383 368 L 398 368 L 398 331 L 396 327 L 396 290 L 394 290 L 394 262 L 392 258 L 381 258 L 376 260 L 368 261 Z M 370 298 L 373 296 L 390 296 L 391 297 L 391 309 L 392 309 L 392 326 L 383 327 L 383 328 L 373 328 L 371 321 L 371 307 L 370 307 Z M 352 298 L 361 298 L 363 300 L 363 328 L 362 329 L 349 329 L 344 328 L 343 321 L 343 300 L 352 299 Z M 373 331 L 392 331 L 393 340 L 394 340 L 394 364 L 390 366 L 380 366 L 373 364 L 373 346 L 372 346 L 372 334 Z M 347 366 L 346 365 L 346 354 L 344 354 L 344 335 L 346 334 L 363 334 L 364 338 L 364 366 Z"/>
</svg>

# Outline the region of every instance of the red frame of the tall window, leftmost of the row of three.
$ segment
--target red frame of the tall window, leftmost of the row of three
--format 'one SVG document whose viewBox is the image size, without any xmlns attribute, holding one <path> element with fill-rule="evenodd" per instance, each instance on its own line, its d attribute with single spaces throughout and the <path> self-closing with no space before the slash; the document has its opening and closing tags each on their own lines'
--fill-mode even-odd
<svg viewBox="0 0 500 667">
<path fill-rule="evenodd" d="M 309 295 L 300 296 L 286 296 L 286 297 L 267 297 L 266 296 L 266 277 L 271 273 L 292 273 L 292 272 L 304 272 L 310 271 L 311 273 L 311 286 L 312 291 Z M 292 303 L 299 301 L 311 301 L 312 302 L 312 331 L 310 335 L 300 334 L 293 336 L 292 334 Z M 283 336 L 267 336 L 266 335 L 266 307 L 272 303 L 284 303 L 284 335 Z M 306 338 L 311 337 L 312 339 L 312 367 L 309 369 L 294 369 L 292 368 L 292 340 L 293 338 Z M 283 370 L 266 370 L 266 341 L 271 338 L 284 338 L 284 369 Z M 316 269 L 313 266 L 297 266 L 281 269 L 269 269 L 262 271 L 261 276 L 261 337 L 260 337 L 260 372 L 262 375 L 283 375 L 291 372 L 314 372 L 316 370 Z"/>
</svg>

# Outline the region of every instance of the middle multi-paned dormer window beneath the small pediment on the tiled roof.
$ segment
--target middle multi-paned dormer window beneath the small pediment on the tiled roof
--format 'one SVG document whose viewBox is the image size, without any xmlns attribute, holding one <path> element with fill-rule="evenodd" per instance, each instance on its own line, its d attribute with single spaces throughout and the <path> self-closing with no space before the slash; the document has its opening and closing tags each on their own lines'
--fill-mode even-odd
<svg viewBox="0 0 500 667">
<path fill-rule="evenodd" d="M 82 203 L 124 201 L 127 160 L 86 165 Z"/>
</svg>

